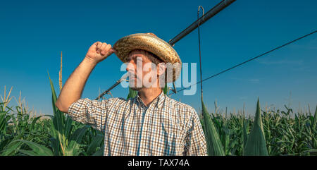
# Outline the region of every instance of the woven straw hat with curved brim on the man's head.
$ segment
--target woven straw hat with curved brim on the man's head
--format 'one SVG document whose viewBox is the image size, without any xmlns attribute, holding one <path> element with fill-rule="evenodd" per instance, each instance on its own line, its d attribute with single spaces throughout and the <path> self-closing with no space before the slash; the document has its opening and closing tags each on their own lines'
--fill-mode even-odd
<svg viewBox="0 0 317 170">
<path fill-rule="evenodd" d="M 178 56 L 178 53 L 170 44 L 156 37 L 153 33 L 138 33 L 125 36 L 113 45 L 113 49 L 117 51 L 116 55 L 123 63 L 128 62 L 128 54 L 130 51 L 143 49 L 155 54 L 165 63 L 173 64 L 175 66 L 175 68 L 173 68 L 173 78 L 169 78 L 170 80 L 167 80 L 167 83 L 174 82 L 180 75 L 182 68 L 180 56 Z"/>
</svg>

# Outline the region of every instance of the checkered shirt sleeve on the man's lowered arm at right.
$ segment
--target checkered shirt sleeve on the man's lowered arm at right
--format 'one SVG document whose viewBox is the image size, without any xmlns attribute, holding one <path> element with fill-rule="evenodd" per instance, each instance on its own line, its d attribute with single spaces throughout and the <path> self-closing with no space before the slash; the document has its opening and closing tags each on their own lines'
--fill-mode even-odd
<svg viewBox="0 0 317 170">
<path fill-rule="evenodd" d="M 186 156 L 208 156 L 204 130 L 196 111 L 192 112 L 192 119 L 189 121 L 189 129 L 185 137 L 185 154 Z"/>
</svg>

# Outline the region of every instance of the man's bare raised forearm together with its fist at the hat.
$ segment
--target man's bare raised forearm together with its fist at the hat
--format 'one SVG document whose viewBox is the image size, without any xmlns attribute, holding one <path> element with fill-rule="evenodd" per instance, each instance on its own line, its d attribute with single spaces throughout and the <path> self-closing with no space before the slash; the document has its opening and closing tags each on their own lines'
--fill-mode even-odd
<svg viewBox="0 0 317 170">
<path fill-rule="evenodd" d="M 60 111 L 68 113 L 68 107 L 80 99 L 85 83 L 94 67 L 97 63 L 113 54 L 114 51 L 115 50 L 111 48 L 111 44 L 102 42 L 92 44 L 88 49 L 85 59 L 83 59 L 80 65 L 70 75 L 65 85 L 63 85 L 55 104 Z"/>
</svg>

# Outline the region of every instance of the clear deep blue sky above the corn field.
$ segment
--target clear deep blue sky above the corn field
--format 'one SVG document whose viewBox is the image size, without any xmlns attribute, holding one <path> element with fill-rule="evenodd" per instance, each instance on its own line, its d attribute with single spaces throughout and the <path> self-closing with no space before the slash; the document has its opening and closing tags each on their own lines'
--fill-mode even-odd
<svg viewBox="0 0 317 170">
<path fill-rule="evenodd" d="M 197 8 L 209 11 L 214 1 L 4 1 L 0 6 L 0 94 L 13 86 L 28 106 L 51 114 L 51 90 L 47 71 L 58 90 L 58 71 L 63 51 L 63 83 L 84 58 L 90 45 L 114 44 L 125 35 L 154 32 L 170 40 L 197 19 Z M 201 25 L 203 78 L 257 56 L 273 47 L 308 34 L 317 28 L 317 1 L 237 0 Z M 199 63 L 197 30 L 175 44 L 182 62 Z M 295 110 L 317 104 L 317 34 L 274 51 L 256 61 L 204 82 L 204 102 L 228 111 L 245 103 L 254 114 L 256 99 L 261 107 Z M 94 99 L 120 78 L 120 60 L 113 54 L 92 71 L 82 97 Z M 198 66 L 198 64 L 197 64 Z M 197 67 L 197 69 L 199 69 Z M 197 70 L 197 73 L 198 70 Z M 199 79 L 199 77 L 197 77 Z M 197 111 L 197 94 L 172 98 Z M 118 86 L 114 97 L 126 97 Z M 290 95 L 291 94 L 291 95 Z M 109 97 L 109 96 L 106 96 Z M 290 100 L 291 99 L 291 100 Z M 11 101 L 11 105 L 15 100 Z"/>
</svg>

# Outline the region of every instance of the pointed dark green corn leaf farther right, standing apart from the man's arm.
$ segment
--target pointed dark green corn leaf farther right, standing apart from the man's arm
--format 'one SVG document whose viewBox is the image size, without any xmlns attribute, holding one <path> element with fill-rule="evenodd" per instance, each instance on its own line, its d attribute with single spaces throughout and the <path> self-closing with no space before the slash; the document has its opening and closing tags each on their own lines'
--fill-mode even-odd
<svg viewBox="0 0 317 170">
<path fill-rule="evenodd" d="M 245 156 L 268 156 L 268 150 L 266 148 L 266 138 L 264 135 L 261 120 L 259 98 L 256 105 L 254 125 L 247 139 L 247 143 L 245 144 L 243 154 Z"/>
</svg>

